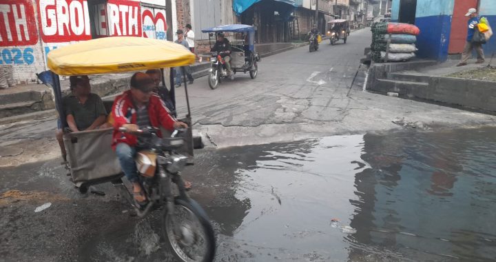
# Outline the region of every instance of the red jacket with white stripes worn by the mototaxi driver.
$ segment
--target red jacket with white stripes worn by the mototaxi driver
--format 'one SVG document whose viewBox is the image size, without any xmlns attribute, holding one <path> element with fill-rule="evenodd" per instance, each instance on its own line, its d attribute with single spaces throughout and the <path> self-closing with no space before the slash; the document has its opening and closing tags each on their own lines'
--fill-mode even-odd
<svg viewBox="0 0 496 262">
<path fill-rule="evenodd" d="M 112 148 L 115 150 L 117 143 L 127 143 L 135 146 L 138 143 L 138 138 L 135 135 L 118 131 L 118 128 L 126 123 L 136 124 L 136 109 L 134 109 L 130 90 L 116 97 L 114 105 L 112 105 L 112 114 L 114 117 Z M 152 126 L 158 128 L 161 125 L 167 130 L 174 130 L 176 120 L 171 117 L 169 110 L 165 107 L 165 103 L 156 94 L 152 94 L 148 101 L 148 116 Z"/>
</svg>

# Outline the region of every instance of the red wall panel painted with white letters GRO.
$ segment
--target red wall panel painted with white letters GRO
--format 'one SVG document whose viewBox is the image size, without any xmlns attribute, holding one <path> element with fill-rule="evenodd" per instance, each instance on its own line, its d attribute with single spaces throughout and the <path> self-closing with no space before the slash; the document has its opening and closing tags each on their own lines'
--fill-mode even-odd
<svg viewBox="0 0 496 262">
<path fill-rule="evenodd" d="M 41 39 L 45 43 L 92 39 L 85 0 L 39 0 Z"/>
</svg>

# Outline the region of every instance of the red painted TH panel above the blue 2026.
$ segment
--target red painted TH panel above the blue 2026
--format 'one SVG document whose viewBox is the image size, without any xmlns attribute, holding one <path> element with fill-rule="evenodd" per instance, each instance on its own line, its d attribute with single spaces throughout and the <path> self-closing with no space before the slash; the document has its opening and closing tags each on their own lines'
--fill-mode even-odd
<svg viewBox="0 0 496 262">
<path fill-rule="evenodd" d="M 30 0 L 0 0 L 0 46 L 32 46 L 38 43 Z"/>
</svg>

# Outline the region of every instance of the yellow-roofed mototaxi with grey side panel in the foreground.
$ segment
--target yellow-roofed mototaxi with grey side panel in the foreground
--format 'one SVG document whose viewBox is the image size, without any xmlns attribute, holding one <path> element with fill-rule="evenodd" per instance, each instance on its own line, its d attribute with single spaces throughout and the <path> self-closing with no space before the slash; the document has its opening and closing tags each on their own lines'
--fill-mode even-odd
<svg viewBox="0 0 496 262">
<path fill-rule="evenodd" d="M 169 41 L 140 37 L 108 37 L 52 50 L 48 54 L 50 70 L 39 74 L 39 79 L 52 86 L 61 128 L 67 128 L 59 76 L 161 69 L 161 84 L 163 88 L 167 88 L 163 68 L 187 66 L 194 63 L 194 59 L 192 52 Z M 169 94 L 175 110 L 174 74 L 169 75 Z M 180 171 L 192 163 L 194 148 L 187 81 L 185 92 L 187 115 L 185 119 L 180 120 L 189 125 L 187 130 L 175 130 L 168 138 L 161 138 L 157 127 L 145 128 L 134 133 L 145 137 L 147 142 L 143 148 L 147 160 L 152 160 L 145 163 L 144 169 L 138 165 L 138 177 L 148 199 L 145 205 L 138 205 L 134 201 L 121 180 L 123 172 L 111 148 L 114 128 L 65 131 L 63 141 L 68 153 L 67 168 L 70 170 L 72 182 L 83 193 L 90 185 L 111 182 L 121 190 L 138 216 L 143 217 L 152 210 L 163 210 L 163 236 L 180 261 L 211 261 L 214 259 L 216 248 L 214 231 L 203 209 L 187 195 L 185 183 L 180 177 Z M 108 110 L 112 102 L 105 105 Z M 125 128 L 118 131 L 127 132 Z M 182 134 L 178 135 L 179 133 Z M 146 159 L 141 159 L 142 165 L 143 160 Z"/>
</svg>

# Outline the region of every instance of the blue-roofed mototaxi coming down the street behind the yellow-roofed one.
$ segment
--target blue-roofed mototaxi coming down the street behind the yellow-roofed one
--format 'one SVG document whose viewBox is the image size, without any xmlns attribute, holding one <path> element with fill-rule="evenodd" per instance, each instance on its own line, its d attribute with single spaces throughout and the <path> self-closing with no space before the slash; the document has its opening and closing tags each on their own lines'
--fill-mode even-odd
<svg viewBox="0 0 496 262">
<path fill-rule="evenodd" d="M 234 24 L 205 28 L 202 30 L 209 34 L 210 48 L 212 40 L 215 43 L 217 33 L 233 33 L 234 39 L 231 41 L 231 70 L 236 72 L 249 72 L 251 79 L 255 79 L 258 74 L 258 62 L 260 55 L 255 52 L 255 30 L 253 26 Z M 226 36 L 227 37 L 227 36 Z M 213 38 L 213 39 L 212 39 Z M 229 77 L 223 59 L 225 54 L 211 52 L 211 68 L 209 70 L 208 82 L 211 89 L 218 88 L 222 79 Z M 234 77 L 234 76 L 233 76 Z"/>
</svg>

